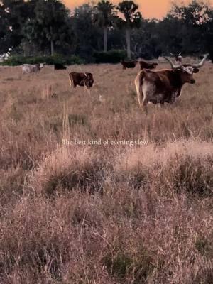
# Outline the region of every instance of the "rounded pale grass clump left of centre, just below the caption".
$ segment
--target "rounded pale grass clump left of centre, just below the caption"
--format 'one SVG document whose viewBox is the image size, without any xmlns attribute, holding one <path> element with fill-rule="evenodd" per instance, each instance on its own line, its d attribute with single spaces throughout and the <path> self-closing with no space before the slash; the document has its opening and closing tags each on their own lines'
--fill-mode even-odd
<svg viewBox="0 0 213 284">
<path fill-rule="evenodd" d="M 33 172 L 31 187 L 54 195 L 57 190 L 102 190 L 104 164 L 89 148 L 59 148 Z"/>
</svg>

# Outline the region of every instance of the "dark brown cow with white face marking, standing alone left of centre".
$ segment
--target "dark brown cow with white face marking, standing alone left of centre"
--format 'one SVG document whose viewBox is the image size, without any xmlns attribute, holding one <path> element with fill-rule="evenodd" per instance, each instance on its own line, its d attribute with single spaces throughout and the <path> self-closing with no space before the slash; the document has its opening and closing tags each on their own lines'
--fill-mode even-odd
<svg viewBox="0 0 213 284">
<path fill-rule="evenodd" d="M 87 89 L 91 88 L 94 79 L 93 75 L 90 72 L 71 72 L 69 74 L 70 78 L 70 87 L 76 88 L 76 86 L 86 86 Z"/>
</svg>

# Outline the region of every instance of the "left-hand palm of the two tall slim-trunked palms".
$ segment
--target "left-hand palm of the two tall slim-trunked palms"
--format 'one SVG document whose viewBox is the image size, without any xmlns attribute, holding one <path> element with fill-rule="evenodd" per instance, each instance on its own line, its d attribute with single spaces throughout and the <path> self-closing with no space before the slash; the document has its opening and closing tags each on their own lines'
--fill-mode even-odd
<svg viewBox="0 0 213 284">
<path fill-rule="evenodd" d="M 94 23 L 97 23 L 104 31 L 104 52 L 107 52 L 107 28 L 112 26 L 115 16 L 114 5 L 108 0 L 99 1 L 94 7 Z"/>
</svg>

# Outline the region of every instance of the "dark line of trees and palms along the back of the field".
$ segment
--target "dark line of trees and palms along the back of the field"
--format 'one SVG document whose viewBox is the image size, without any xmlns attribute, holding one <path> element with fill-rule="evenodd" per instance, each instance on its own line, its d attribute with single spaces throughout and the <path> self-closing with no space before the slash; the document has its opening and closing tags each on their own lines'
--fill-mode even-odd
<svg viewBox="0 0 213 284">
<path fill-rule="evenodd" d="M 173 4 L 162 19 L 144 19 L 137 4 L 101 0 L 73 11 L 60 0 L 1 0 L 0 53 L 77 55 L 126 50 L 127 58 L 213 53 L 213 9 L 202 1 Z"/>
</svg>

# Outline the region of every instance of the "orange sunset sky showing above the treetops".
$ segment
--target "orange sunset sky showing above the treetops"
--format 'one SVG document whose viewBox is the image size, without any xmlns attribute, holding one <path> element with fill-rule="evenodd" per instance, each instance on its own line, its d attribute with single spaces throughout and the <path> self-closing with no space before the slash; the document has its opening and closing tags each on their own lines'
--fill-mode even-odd
<svg viewBox="0 0 213 284">
<path fill-rule="evenodd" d="M 114 4 L 118 3 L 119 0 L 111 0 Z M 87 0 L 63 0 L 63 2 L 70 8 L 73 9 L 75 6 L 79 6 L 83 3 L 87 3 Z M 96 3 L 97 1 L 92 1 Z M 171 0 L 136 0 L 135 1 L 141 10 L 143 18 L 163 18 L 167 11 L 170 9 Z M 173 1 L 180 3 L 181 1 Z M 187 3 L 189 0 L 183 0 L 182 2 Z M 207 1 L 212 4 L 213 0 Z"/>
</svg>

